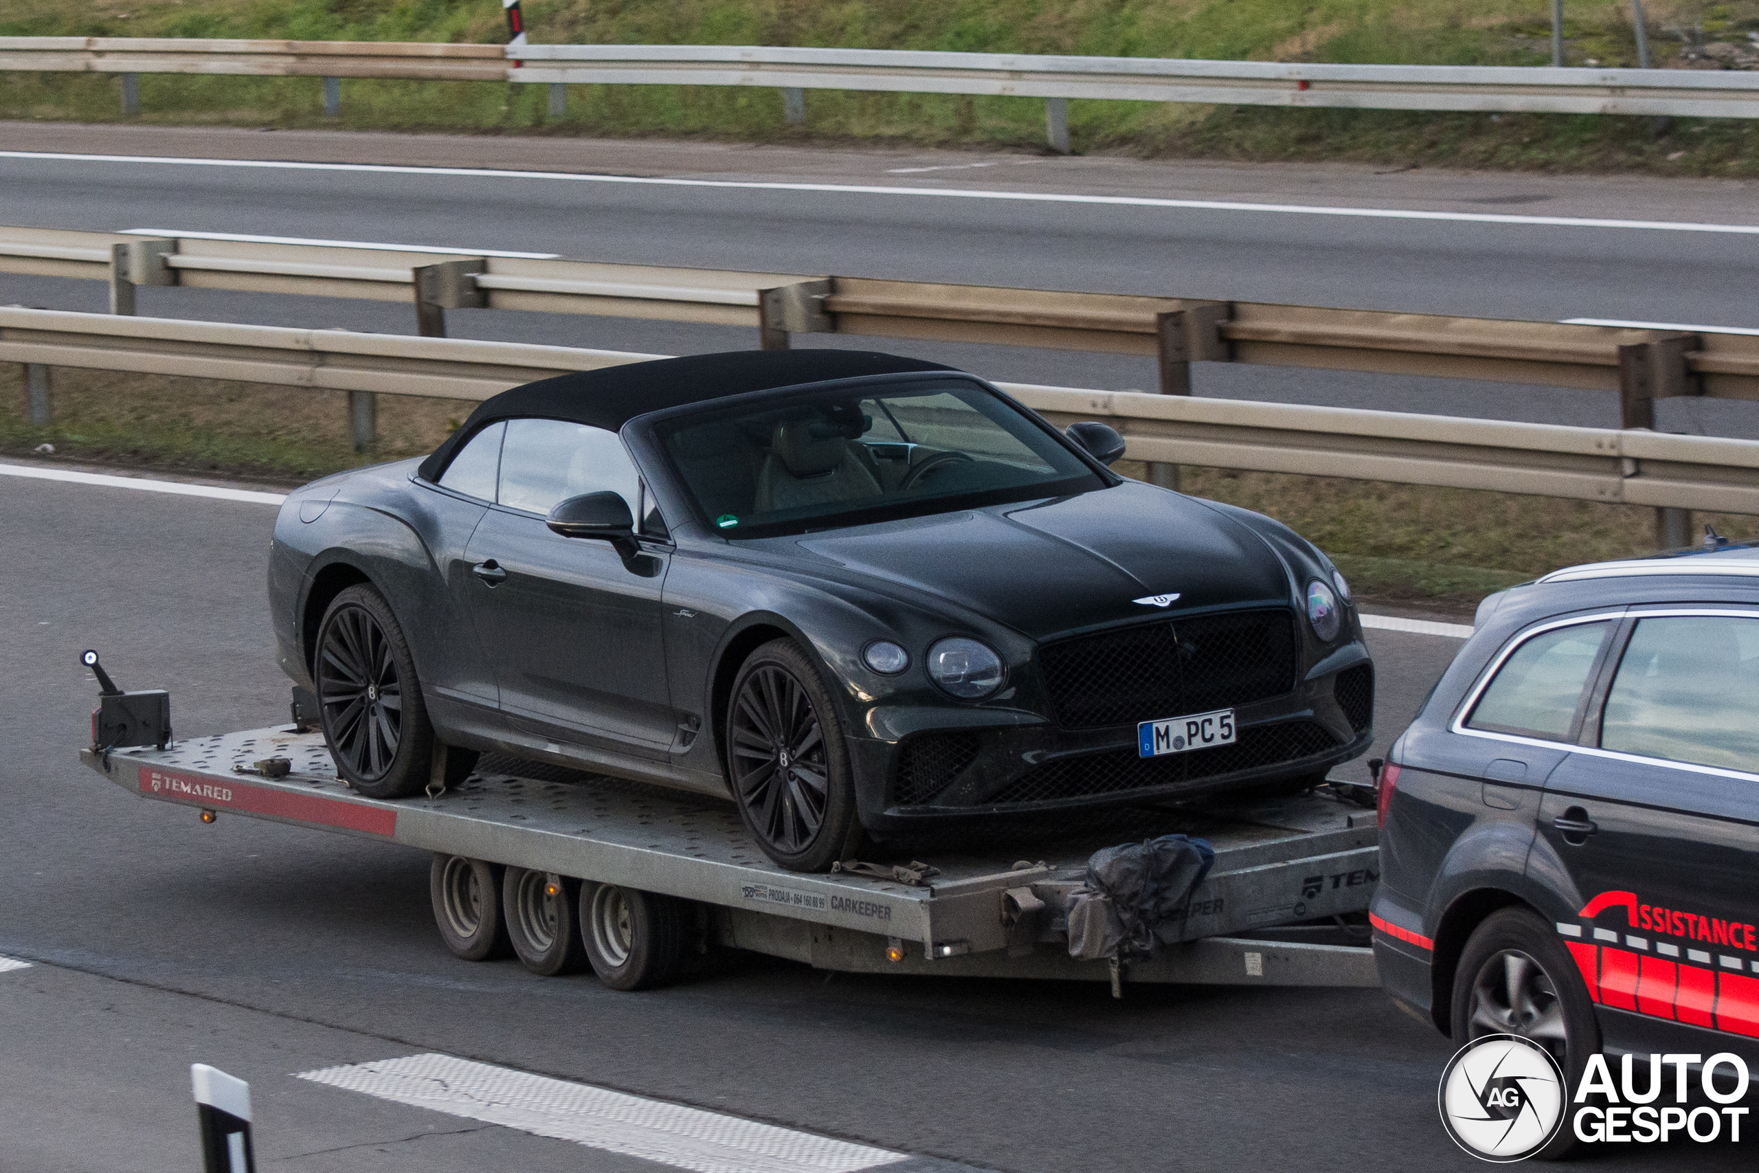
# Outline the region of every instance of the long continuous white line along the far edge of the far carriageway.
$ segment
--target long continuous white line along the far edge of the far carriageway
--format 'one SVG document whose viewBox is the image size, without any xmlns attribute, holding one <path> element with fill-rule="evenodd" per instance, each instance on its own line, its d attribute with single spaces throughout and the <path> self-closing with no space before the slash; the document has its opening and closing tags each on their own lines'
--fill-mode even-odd
<svg viewBox="0 0 1759 1173">
<path fill-rule="evenodd" d="M 1726 232 L 1759 236 L 1759 223 L 1696 223 L 1687 220 L 1613 220 L 1602 216 L 1518 216 L 1493 211 L 1416 211 L 1409 208 L 1332 208 L 1314 204 L 1247 204 L 1212 199 L 1159 199 L 1150 195 L 1077 195 L 1073 192 L 994 192 L 976 188 L 901 188 L 860 183 L 785 183 L 749 179 L 675 179 L 668 176 L 602 176 L 568 171 L 503 171 L 494 167 L 403 167 L 392 164 L 297 164 L 264 158 L 172 158 L 165 155 L 72 155 L 65 151 L 0 151 L 0 158 L 44 158 L 72 164 L 164 164 L 176 167 L 243 167 L 262 171 L 352 171 L 390 176 L 463 176 L 471 179 L 558 179 L 565 183 L 633 183 L 677 188 L 737 188 L 751 192 L 828 192 L 841 195 L 920 195 L 932 199 L 987 199 L 1024 204 L 1101 204 L 1113 208 L 1184 208 L 1194 211 L 1247 211 L 1295 216 L 1354 216 L 1367 220 L 1442 220 L 1456 223 L 1541 225 L 1557 229 L 1620 229 L 1652 232 Z"/>
</svg>

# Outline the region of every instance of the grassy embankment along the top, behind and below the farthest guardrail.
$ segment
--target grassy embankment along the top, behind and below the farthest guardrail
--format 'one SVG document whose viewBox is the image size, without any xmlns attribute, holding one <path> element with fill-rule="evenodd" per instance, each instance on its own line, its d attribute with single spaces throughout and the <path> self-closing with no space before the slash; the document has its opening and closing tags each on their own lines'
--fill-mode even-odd
<svg viewBox="0 0 1759 1173">
<path fill-rule="evenodd" d="M 1759 0 L 1650 0 L 1657 65 L 1759 60 Z M 1279 62 L 1544 65 L 1541 0 L 528 0 L 535 42 L 770 44 Z M 1567 63 L 1634 65 L 1625 0 L 1567 0 Z M 498 42 L 491 0 L 0 0 L 0 35 L 290 37 Z M 116 120 L 118 81 L 93 74 L 0 77 L 0 116 Z M 141 79 L 141 118 L 167 123 L 343 125 L 396 130 L 668 134 L 760 141 L 931 142 L 1040 149 L 1043 104 L 809 91 L 807 127 L 783 123 L 776 90 L 573 86 L 545 114 L 544 86 L 348 81 L 343 116 L 322 116 L 315 77 Z M 1284 111 L 1075 102 L 1082 151 L 1237 160 L 1358 160 L 1546 171 L 1759 174 L 1748 121 L 1562 114 Z"/>
</svg>

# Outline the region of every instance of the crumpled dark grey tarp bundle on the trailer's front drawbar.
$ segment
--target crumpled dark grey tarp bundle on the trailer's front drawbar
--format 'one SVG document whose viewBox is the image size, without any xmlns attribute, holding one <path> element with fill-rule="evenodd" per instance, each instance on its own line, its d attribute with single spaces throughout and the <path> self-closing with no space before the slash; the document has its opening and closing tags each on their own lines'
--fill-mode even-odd
<svg viewBox="0 0 1759 1173">
<path fill-rule="evenodd" d="M 1161 944 L 1179 941 L 1191 893 L 1214 862 L 1208 841 L 1189 835 L 1094 851 L 1084 886 L 1066 904 L 1069 957 L 1149 958 Z"/>
</svg>

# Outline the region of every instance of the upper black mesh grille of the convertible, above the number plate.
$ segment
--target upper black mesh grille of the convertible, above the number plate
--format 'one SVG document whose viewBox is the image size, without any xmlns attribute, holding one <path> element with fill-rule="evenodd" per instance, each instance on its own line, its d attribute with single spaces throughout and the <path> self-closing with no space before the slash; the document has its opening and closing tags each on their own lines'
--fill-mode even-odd
<svg viewBox="0 0 1759 1173">
<path fill-rule="evenodd" d="M 1295 688 L 1295 616 L 1242 610 L 1084 635 L 1040 651 L 1071 730 L 1244 705 Z"/>
</svg>

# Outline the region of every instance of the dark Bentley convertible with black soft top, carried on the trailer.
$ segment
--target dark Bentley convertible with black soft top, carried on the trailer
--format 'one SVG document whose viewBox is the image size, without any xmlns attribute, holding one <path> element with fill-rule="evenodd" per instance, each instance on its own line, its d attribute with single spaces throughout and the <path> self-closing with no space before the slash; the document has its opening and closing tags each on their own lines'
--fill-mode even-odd
<svg viewBox="0 0 1759 1173">
<path fill-rule="evenodd" d="M 1370 739 L 1347 587 L 880 353 L 668 359 L 484 403 L 287 499 L 281 667 L 396 797 L 500 749 L 739 804 L 823 869 L 923 820 L 1298 786 Z"/>
</svg>

